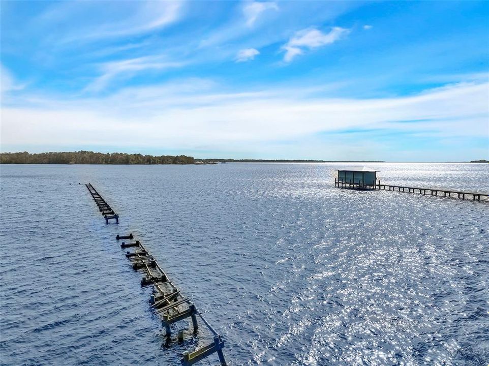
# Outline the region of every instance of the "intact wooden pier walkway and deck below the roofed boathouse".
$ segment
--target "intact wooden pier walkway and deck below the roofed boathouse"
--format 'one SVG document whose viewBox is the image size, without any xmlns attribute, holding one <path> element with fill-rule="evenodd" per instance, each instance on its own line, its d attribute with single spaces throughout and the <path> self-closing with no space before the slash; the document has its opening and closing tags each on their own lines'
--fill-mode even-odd
<svg viewBox="0 0 489 366">
<path fill-rule="evenodd" d="M 396 192 L 407 192 L 407 193 L 420 193 L 426 195 L 428 192 L 431 196 L 438 196 L 438 193 L 443 194 L 443 197 L 455 197 L 465 199 L 472 197 L 474 201 L 488 201 L 489 193 L 481 192 L 467 192 L 467 191 L 455 191 L 444 188 L 420 188 L 420 187 L 410 187 L 410 186 L 399 186 L 399 185 L 386 185 L 381 184 L 380 180 L 376 184 L 358 184 L 351 181 L 341 181 L 334 178 L 334 186 L 338 188 L 355 189 L 355 190 L 384 190 L 384 191 L 396 191 Z M 417 191 L 417 192 L 416 192 Z M 453 196 L 452 196 L 453 195 Z M 481 198 L 482 197 L 482 198 Z"/>
</svg>

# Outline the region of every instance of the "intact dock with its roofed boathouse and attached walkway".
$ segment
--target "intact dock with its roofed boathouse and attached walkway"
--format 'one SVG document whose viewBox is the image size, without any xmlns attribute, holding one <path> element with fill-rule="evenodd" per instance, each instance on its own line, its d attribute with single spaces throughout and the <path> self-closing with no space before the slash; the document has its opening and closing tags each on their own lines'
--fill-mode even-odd
<svg viewBox="0 0 489 366">
<path fill-rule="evenodd" d="M 467 196 L 467 198 L 472 198 L 474 201 L 489 200 L 489 193 L 381 184 L 380 180 L 377 180 L 377 172 L 378 170 L 369 170 L 360 167 L 339 169 L 338 177 L 334 178 L 334 187 L 355 190 L 384 190 L 408 193 L 419 192 L 422 195 L 429 194 L 431 196 L 438 196 L 438 194 L 441 196 L 441 194 L 443 194 L 443 197 L 455 197 L 461 199 L 465 199 L 465 196 Z"/>
</svg>

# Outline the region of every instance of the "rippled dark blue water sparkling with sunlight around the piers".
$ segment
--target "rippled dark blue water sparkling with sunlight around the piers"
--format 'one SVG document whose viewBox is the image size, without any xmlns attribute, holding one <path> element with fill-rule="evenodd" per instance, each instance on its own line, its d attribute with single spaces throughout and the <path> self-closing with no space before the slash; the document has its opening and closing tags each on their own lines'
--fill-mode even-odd
<svg viewBox="0 0 489 366">
<path fill-rule="evenodd" d="M 1 166 L 1 363 L 178 364 L 205 344 L 165 345 L 114 240 L 133 232 L 231 365 L 487 366 L 489 203 L 341 190 L 338 166 Z M 489 191 L 487 164 L 370 166 Z"/>
</svg>

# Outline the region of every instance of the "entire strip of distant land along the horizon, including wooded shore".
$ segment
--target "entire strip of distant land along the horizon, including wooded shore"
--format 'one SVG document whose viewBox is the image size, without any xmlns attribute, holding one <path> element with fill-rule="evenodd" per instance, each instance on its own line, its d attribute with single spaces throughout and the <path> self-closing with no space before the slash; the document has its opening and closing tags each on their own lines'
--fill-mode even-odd
<svg viewBox="0 0 489 366">
<path fill-rule="evenodd" d="M 0 164 L 218 164 L 218 163 L 385 163 L 382 160 L 313 160 L 313 159 L 198 159 L 186 155 L 142 155 L 127 153 L 94 153 L 94 151 L 73 151 L 30 154 L 1 153 Z M 401 163 L 401 162 L 399 162 Z M 441 162 L 440 162 L 441 163 Z M 489 163 L 488 160 L 445 163 Z"/>
</svg>

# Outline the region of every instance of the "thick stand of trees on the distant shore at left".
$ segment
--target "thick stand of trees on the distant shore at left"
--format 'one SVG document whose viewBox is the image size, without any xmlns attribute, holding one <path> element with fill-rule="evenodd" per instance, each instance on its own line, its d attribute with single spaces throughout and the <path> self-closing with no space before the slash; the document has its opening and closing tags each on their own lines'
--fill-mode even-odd
<svg viewBox="0 0 489 366">
<path fill-rule="evenodd" d="M 152 156 L 141 154 L 102 154 L 93 151 L 74 153 L 2 153 L 1 164 L 195 164 L 193 157 L 185 155 Z"/>
</svg>

